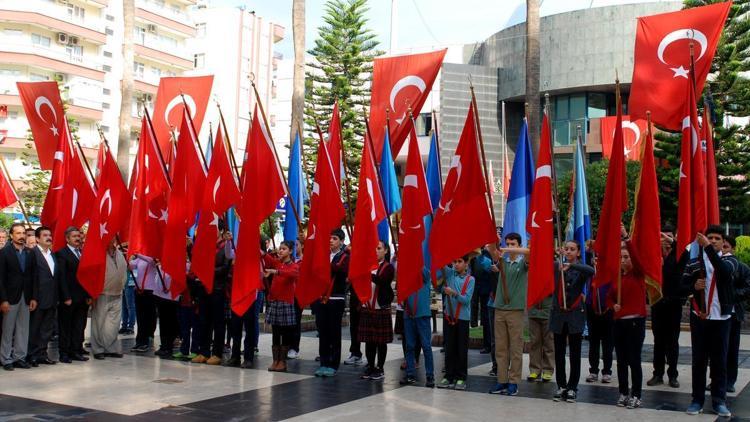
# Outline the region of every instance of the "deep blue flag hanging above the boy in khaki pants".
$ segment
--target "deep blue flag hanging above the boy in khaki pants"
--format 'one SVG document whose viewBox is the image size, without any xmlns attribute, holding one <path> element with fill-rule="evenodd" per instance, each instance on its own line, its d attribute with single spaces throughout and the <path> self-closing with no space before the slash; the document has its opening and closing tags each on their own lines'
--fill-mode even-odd
<svg viewBox="0 0 750 422">
<path fill-rule="evenodd" d="M 531 206 L 531 189 L 534 186 L 536 167 L 531 153 L 529 128 L 526 119 L 521 126 L 518 137 L 516 157 L 513 160 L 513 171 L 510 175 L 510 189 L 508 202 L 505 204 L 505 220 L 503 221 L 503 236 L 508 233 L 521 235 L 522 246 L 528 246 L 529 234 L 526 232 L 526 216 Z M 505 240 L 503 239 L 503 245 Z"/>
</svg>

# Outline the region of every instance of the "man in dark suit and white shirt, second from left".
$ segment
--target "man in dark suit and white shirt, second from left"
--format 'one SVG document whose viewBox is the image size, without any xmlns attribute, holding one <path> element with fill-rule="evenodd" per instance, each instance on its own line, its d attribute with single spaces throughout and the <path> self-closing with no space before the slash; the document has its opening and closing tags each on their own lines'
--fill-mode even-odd
<svg viewBox="0 0 750 422">
<path fill-rule="evenodd" d="M 37 246 L 32 249 L 36 262 L 35 280 L 39 290 L 37 292 L 37 307 L 31 313 L 31 329 L 29 333 L 29 356 L 31 366 L 39 364 L 53 365 L 57 362 L 47 355 L 47 344 L 55 329 L 57 303 L 61 295 L 68 296 L 64 284 L 60 283 L 60 266 L 52 252 L 52 230 L 41 226 L 36 229 Z"/>
</svg>

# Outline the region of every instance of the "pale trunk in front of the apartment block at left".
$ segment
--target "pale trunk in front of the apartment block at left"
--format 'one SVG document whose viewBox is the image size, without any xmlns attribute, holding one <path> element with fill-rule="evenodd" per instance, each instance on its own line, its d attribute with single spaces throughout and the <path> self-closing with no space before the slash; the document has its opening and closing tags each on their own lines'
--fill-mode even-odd
<svg viewBox="0 0 750 422">
<path fill-rule="evenodd" d="M 117 136 L 117 167 L 123 179 L 128 180 L 130 168 L 130 126 L 133 104 L 133 27 L 135 26 L 135 0 L 122 0 L 123 41 L 122 41 L 122 82 L 120 92 L 119 134 Z"/>
</svg>

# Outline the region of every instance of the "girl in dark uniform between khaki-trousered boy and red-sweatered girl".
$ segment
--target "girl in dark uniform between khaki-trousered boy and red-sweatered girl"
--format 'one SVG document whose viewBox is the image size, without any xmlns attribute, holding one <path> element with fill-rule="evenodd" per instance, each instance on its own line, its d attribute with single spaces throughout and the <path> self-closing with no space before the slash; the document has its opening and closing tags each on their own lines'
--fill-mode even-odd
<svg viewBox="0 0 750 422">
<path fill-rule="evenodd" d="M 581 378 L 583 327 L 586 324 L 583 290 L 588 278 L 594 275 L 594 268 L 578 261 L 581 256 L 581 245 L 574 240 L 565 242 L 562 253 L 565 257 L 562 268 L 555 263 L 555 293 L 549 318 L 549 329 L 555 340 L 557 381 L 557 391 L 552 399 L 575 403 L 578 396 L 578 381 Z M 566 350 L 569 351 L 570 360 L 570 375 L 567 379 Z"/>
</svg>

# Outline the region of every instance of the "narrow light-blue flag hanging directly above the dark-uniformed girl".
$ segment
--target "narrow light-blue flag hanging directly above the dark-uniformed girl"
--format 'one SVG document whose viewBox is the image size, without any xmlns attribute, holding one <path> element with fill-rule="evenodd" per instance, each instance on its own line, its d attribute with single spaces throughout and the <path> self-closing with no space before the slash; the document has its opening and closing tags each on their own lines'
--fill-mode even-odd
<svg viewBox="0 0 750 422">
<path fill-rule="evenodd" d="M 589 193 L 586 186 L 586 170 L 583 166 L 583 144 L 578 139 L 573 159 L 572 212 L 565 233 L 566 240 L 575 240 L 581 245 L 581 262 L 586 261 L 586 242 L 591 239 L 591 213 Z"/>
</svg>

